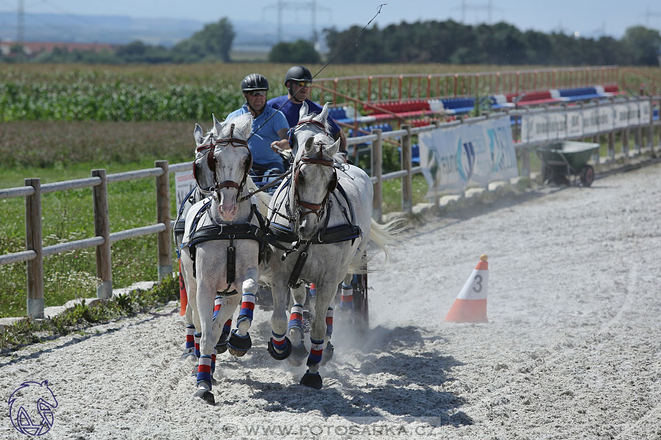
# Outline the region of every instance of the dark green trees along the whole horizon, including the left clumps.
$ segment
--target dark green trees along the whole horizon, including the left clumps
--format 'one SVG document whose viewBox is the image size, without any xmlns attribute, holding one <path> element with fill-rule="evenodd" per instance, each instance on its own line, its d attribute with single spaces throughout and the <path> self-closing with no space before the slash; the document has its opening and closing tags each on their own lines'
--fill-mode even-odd
<svg viewBox="0 0 661 440">
<path fill-rule="evenodd" d="M 360 32 L 326 29 L 328 57 L 337 63 L 451 63 L 491 65 L 659 65 L 661 34 L 658 30 L 633 26 L 621 39 L 576 37 L 564 32 L 546 34 L 518 30 L 500 22 L 465 25 L 456 21 L 417 21 L 378 25 Z M 359 34 L 357 39 L 355 35 Z M 223 18 L 171 48 L 134 41 L 114 52 L 56 49 L 28 60 L 19 47 L 0 61 L 43 63 L 197 63 L 229 62 L 235 31 Z M 354 41 L 355 39 L 355 41 Z M 348 44 L 350 43 L 350 44 Z M 277 43 L 269 61 L 275 63 L 319 63 L 324 56 L 308 41 Z"/>
</svg>

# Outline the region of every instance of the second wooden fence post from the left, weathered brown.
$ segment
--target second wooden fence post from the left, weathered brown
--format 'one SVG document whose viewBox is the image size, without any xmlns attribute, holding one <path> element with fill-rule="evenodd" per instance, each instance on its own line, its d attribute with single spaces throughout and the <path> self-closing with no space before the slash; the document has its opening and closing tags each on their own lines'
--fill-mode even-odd
<svg viewBox="0 0 661 440">
<path fill-rule="evenodd" d="M 108 179 L 105 170 L 92 170 L 92 177 L 101 178 L 94 186 L 94 235 L 102 236 L 102 245 L 96 246 L 96 278 L 101 284 L 96 287 L 96 297 L 108 299 L 112 296 L 112 265 L 110 263 L 110 217 L 108 213 Z"/>
</svg>

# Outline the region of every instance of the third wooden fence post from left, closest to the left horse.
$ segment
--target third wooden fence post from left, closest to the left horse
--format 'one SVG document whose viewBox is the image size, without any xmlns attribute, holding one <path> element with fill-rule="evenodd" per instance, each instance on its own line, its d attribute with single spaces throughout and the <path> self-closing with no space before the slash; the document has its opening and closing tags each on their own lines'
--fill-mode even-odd
<svg viewBox="0 0 661 440">
<path fill-rule="evenodd" d="M 158 232 L 158 281 L 172 273 L 172 229 L 170 225 L 170 175 L 167 160 L 157 160 L 154 167 L 162 168 L 156 177 L 156 223 L 165 224 Z"/>
</svg>

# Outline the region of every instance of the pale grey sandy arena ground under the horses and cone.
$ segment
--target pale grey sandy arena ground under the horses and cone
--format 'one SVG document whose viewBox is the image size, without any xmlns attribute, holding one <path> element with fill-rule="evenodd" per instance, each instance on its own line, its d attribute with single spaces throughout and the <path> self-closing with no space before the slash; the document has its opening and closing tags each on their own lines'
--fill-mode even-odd
<svg viewBox="0 0 661 440">
<path fill-rule="evenodd" d="M 0 395 L 48 380 L 51 439 L 661 439 L 661 164 L 496 203 L 405 234 L 368 337 L 336 316 L 321 391 L 266 353 L 257 309 L 216 406 L 193 400 L 171 303 L 0 358 Z M 443 322 L 483 253 L 490 322 Z"/>
</svg>

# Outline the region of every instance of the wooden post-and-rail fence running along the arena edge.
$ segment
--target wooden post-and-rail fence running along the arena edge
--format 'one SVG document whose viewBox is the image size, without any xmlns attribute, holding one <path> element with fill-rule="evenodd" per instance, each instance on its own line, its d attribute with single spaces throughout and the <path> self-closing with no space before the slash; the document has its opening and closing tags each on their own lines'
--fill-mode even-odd
<svg viewBox="0 0 661 440">
<path fill-rule="evenodd" d="M 647 98 L 650 99 L 651 98 Z M 658 100 L 659 97 L 655 97 Z M 588 104 L 598 105 L 598 104 Z M 649 123 L 640 123 L 636 126 L 628 126 L 625 129 L 613 129 L 598 133 L 591 133 L 591 137 L 600 135 L 608 136 L 607 157 L 596 157 L 596 162 L 609 162 L 615 159 L 615 133 L 622 132 L 622 151 L 629 155 L 629 132 L 635 130 L 636 151 L 642 150 L 642 129 L 646 129 L 647 146 L 652 148 L 654 144 L 655 126 L 659 126 L 661 121 L 653 120 L 653 109 L 651 107 Z M 525 114 L 527 111 L 534 110 L 512 110 L 510 117 L 516 121 L 516 118 Z M 491 117 L 505 113 L 496 113 Z M 382 183 L 392 179 L 401 179 L 401 210 L 403 212 L 412 211 L 412 176 L 421 173 L 421 167 L 413 167 L 412 159 L 412 139 L 418 133 L 430 131 L 437 128 L 448 128 L 457 124 L 473 124 L 490 115 L 483 115 L 477 118 L 468 118 L 465 120 L 456 120 L 447 123 L 439 123 L 429 126 L 411 128 L 409 125 L 403 125 L 401 129 L 382 133 L 380 130 L 373 130 L 370 135 L 361 137 L 351 137 L 347 143 L 362 144 L 372 142 L 371 153 L 371 175 L 375 187 L 373 200 L 373 217 L 377 220 L 382 215 Z M 517 142 L 520 139 L 520 131 L 514 126 L 515 148 L 519 157 L 521 157 L 521 175 L 529 177 L 530 158 L 529 154 L 534 148 L 541 144 L 547 144 L 549 141 L 538 142 Z M 661 130 L 659 135 L 661 144 Z M 582 139 L 580 137 L 568 137 L 568 139 Z M 383 141 L 386 139 L 397 140 L 401 147 L 401 167 L 392 173 L 382 173 Z M 26 263 L 27 287 L 28 287 L 28 316 L 30 318 L 42 318 L 44 299 L 43 299 L 43 257 L 54 254 L 61 254 L 72 250 L 84 248 L 96 248 L 96 276 L 101 279 L 101 284 L 97 288 L 98 298 L 109 298 L 112 295 L 112 264 L 110 261 L 110 245 L 116 241 L 131 239 L 148 234 L 157 234 L 158 236 L 158 277 L 159 279 L 171 274 L 172 272 L 172 235 L 171 235 L 171 213 L 170 213 L 170 193 L 169 182 L 170 174 L 179 171 L 192 169 L 192 162 L 169 165 L 167 161 L 154 162 L 154 168 L 145 170 L 129 171 L 127 173 L 118 173 L 107 175 L 103 169 L 92 170 L 92 177 L 86 179 L 76 179 L 70 181 L 60 181 L 52 184 L 41 185 L 38 178 L 25 179 L 25 186 L 18 188 L 7 188 L 0 190 L 0 199 L 12 197 L 25 197 L 25 251 L 12 254 L 0 255 L 0 265 L 11 263 Z M 108 184 L 119 181 L 128 181 L 134 179 L 145 179 L 154 177 L 156 179 L 156 223 L 133 228 L 119 232 L 109 232 L 109 213 L 108 213 Z M 94 236 L 67 243 L 42 247 L 41 230 L 41 195 L 48 192 L 63 190 L 72 190 L 76 188 L 92 188 L 94 194 Z M 438 199 L 435 200 L 438 203 Z"/>
</svg>

